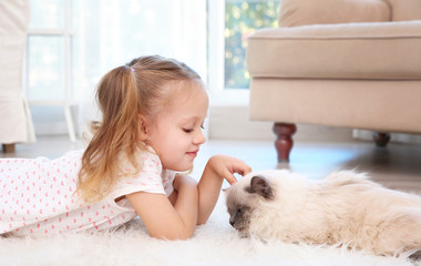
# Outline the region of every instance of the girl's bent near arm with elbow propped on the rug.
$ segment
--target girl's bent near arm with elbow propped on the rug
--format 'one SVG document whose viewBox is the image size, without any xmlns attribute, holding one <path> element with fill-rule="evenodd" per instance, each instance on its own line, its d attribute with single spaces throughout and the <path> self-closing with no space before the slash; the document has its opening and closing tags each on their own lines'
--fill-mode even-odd
<svg viewBox="0 0 421 266">
<path fill-rule="evenodd" d="M 189 176 L 176 175 L 174 195 L 137 192 L 126 195 L 150 235 L 165 239 L 187 239 L 197 222 L 197 184 Z M 174 202 L 174 206 L 172 204 Z"/>
</svg>

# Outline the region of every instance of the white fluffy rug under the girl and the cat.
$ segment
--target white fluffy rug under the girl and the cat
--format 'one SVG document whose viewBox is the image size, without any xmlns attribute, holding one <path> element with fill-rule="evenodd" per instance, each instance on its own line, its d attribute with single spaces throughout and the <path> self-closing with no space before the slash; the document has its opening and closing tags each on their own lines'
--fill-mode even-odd
<svg viewBox="0 0 421 266">
<path fill-rule="evenodd" d="M 151 238 L 136 219 L 127 228 L 96 235 L 43 239 L 0 238 L 0 265 L 413 265 L 404 256 L 382 257 L 343 247 L 263 243 L 239 238 L 228 224 L 223 196 L 192 239 Z M 420 264 L 421 265 L 421 264 Z"/>
</svg>

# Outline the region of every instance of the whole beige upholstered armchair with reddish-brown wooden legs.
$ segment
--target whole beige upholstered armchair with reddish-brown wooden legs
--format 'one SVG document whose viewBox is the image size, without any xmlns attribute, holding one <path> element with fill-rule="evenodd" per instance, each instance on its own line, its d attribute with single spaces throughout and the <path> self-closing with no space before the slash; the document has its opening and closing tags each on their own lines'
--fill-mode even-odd
<svg viewBox="0 0 421 266">
<path fill-rule="evenodd" d="M 279 28 L 248 39 L 250 119 L 275 122 L 278 161 L 296 124 L 421 133 L 420 0 L 283 0 Z"/>
</svg>

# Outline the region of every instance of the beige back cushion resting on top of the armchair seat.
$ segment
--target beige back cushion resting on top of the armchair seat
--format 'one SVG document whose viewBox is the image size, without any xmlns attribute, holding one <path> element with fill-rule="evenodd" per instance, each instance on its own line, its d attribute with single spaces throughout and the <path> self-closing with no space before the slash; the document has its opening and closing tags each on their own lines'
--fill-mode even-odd
<svg viewBox="0 0 421 266">
<path fill-rule="evenodd" d="M 380 22 L 390 19 L 390 7 L 382 0 L 283 0 L 279 25 Z"/>
</svg>

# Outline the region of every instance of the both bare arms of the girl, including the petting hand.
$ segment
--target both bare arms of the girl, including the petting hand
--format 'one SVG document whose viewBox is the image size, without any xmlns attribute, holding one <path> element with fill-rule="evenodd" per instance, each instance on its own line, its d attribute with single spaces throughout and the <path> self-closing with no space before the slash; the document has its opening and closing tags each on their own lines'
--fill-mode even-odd
<svg viewBox="0 0 421 266">
<path fill-rule="evenodd" d="M 204 224 L 218 200 L 224 178 L 234 184 L 234 173 L 245 175 L 251 168 L 238 158 L 215 155 L 207 162 L 201 182 L 177 174 L 174 193 L 163 194 L 137 192 L 126 195 L 150 235 L 165 239 L 187 239 L 193 236 L 197 224 Z"/>
</svg>

